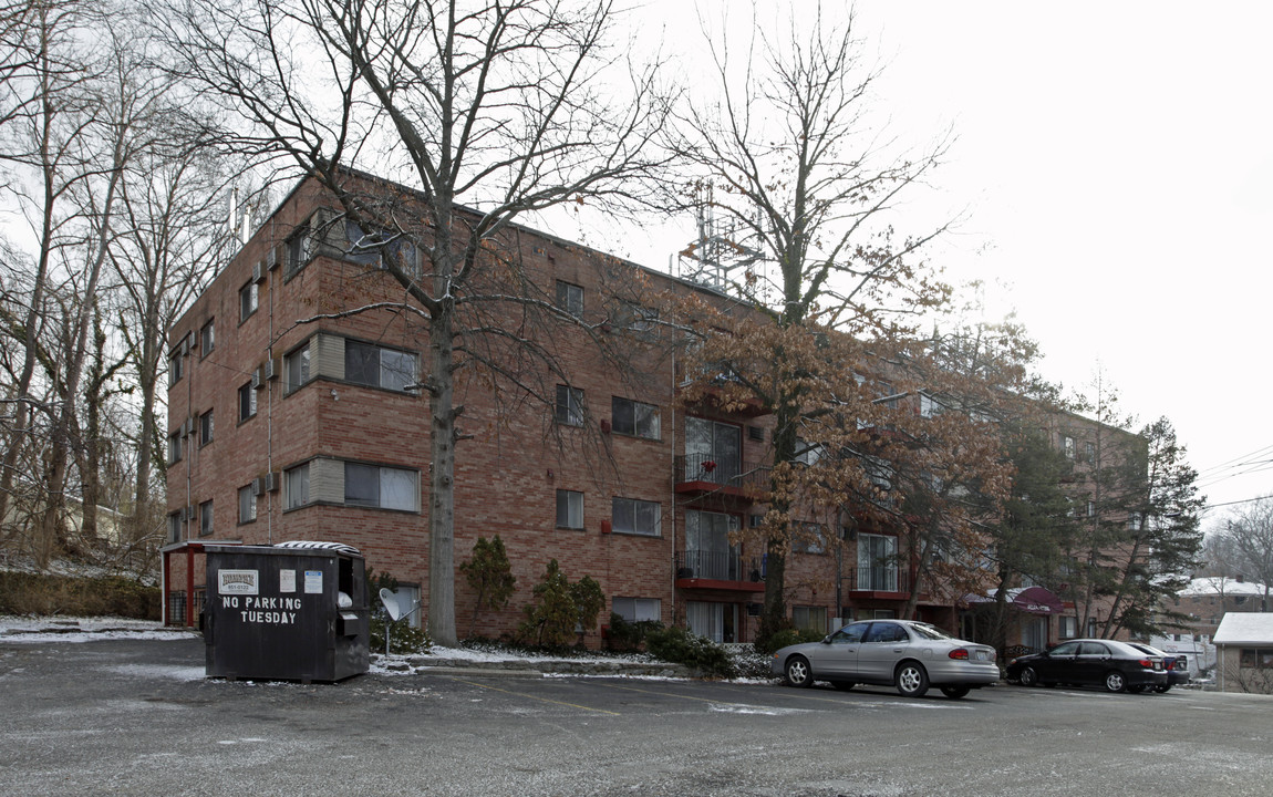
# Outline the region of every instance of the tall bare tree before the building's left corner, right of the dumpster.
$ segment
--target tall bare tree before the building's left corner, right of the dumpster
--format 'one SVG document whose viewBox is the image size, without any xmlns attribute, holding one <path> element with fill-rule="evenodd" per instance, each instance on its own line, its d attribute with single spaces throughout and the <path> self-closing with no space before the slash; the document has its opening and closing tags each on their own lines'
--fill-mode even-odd
<svg viewBox="0 0 1273 797">
<path fill-rule="evenodd" d="M 423 321 L 429 367 L 429 630 L 456 642 L 454 447 L 457 373 L 537 395 L 484 360 L 503 350 L 547 362 L 524 327 L 491 316 L 575 323 L 496 253 L 514 220 L 568 202 L 642 201 L 658 166 L 649 143 L 666 106 L 651 70 L 626 85 L 608 47 L 615 8 L 556 1 L 168 0 L 155 23 L 173 69 L 237 116 L 220 141 L 317 180 L 344 222 L 379 250 Z M 359 171 L 410 185 L 368 180 Z M 342 223 L 344 223 L 342 222 Z M 402 243 L 423 252 L 415 270 Z M 503 311 L 490 309 L 502 306 Z M 546 396 L 541 396 L 547 398 Z"/>
</svg>

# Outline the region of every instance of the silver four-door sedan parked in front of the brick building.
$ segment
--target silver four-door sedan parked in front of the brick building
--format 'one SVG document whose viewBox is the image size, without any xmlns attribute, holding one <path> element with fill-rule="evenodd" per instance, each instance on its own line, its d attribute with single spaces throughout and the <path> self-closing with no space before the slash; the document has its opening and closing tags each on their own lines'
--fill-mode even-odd
<svg viewBox="0 0 1273 797">
<path fill-rule="evenodd" d="M 951 699 L 999 680 L 994 648 L 956 639 L 927 623 L 863 620 L 821 642 L 792 644 L 774 653 L 773 672 L 792 686 L 829 681 L 836 689 L 892 685 L 918 698 L 938 686 Z"/>
</svg>

